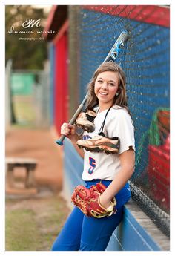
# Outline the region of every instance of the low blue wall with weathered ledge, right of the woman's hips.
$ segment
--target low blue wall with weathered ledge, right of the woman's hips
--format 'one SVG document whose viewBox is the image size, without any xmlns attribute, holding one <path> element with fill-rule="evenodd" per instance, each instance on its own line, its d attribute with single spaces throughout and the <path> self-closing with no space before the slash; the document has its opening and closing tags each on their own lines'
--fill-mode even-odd
<svg viewBox="0 0 175 256">
<path fill-rule="evenodd" d="M 166 251 L 170 240 L 150 218 L 130 200 L 124 209 L 122 223 L 113 232 L 107 251 Z"/>
</svg>

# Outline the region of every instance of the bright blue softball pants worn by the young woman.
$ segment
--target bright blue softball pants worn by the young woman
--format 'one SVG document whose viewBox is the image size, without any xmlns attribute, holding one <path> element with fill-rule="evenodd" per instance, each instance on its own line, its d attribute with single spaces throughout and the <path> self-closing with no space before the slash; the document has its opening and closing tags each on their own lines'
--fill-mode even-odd
<svg viewBox="0 0 175 256">
<path fill-rule="evenodd" d="M 101 180 L 87 181 L 86 187 Z M 102 180 L 105 186 L 110 180 Z M 86 217 L 77 207 L 70 213 L 65 226 L 56 238 L 52 251 L 105 251 L 113 231 L 122 220 L 123 205 L 131 197 L 128 183 L 116 194 L 116 214 L 110 217 Z"/>
</svg>

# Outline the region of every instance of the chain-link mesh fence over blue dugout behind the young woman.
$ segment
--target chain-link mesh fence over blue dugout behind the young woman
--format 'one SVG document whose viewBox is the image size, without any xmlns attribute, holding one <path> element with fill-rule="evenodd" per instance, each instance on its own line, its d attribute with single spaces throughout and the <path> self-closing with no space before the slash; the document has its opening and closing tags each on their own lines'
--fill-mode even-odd
<svg viewBox="0 0 175 256">
<path fill-rule="evenodd" d="M 76 82 L 71 86 L 77 88 L 79 81 L 81 100 L 94 70 L 103 62 L 119 34 L 128 32 L 127 45 L 116 62 L 125 70 L 128 107 L 135 127 L 136 168 L 131 177 L 132 197 L 162 232 L 169 235 L 169 7 L 70 6 L 69 13 L 72 27 L 69 37 L 73 41 L 70 67 L 76 72 Z"/>
</svg>

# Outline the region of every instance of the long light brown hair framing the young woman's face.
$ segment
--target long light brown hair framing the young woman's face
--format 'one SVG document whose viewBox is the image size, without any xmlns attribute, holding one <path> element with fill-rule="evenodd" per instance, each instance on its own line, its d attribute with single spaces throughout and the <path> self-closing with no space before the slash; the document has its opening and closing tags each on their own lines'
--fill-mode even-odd
<svg viewBox="0 0 175 256">
<path fill-rule="evenodd" d="M 113 98 L 113 105 L 119 105 L 123 108 L 126 108 L 128 110 L 128 102 L 127 102 L 127 96 L 126 96 L 126 84 L 125 84 L 125 73 L 120 67 L 120 65 L 114 63 L 114 62 L 105 62 L 99 65 L 99 68 L 93 73 L 93 77 L 90 80 L 90 83 L 87 85 L 87 109 L 93 109 L 96 105 L 99 104 L 99 100 L 96 97 L 96 94 L 94 92 L 94 86 L 96 82 L 97 76 L 99 76 L 99 73 L 105 72 L 105 71 L 112 71 L 116 72 L 119 75 L 119 89 L 117 93 L 119 93 L 117 96 L 114 96 Z M 129 112 L 129 111 L 128 111 Z"/>
</svg>

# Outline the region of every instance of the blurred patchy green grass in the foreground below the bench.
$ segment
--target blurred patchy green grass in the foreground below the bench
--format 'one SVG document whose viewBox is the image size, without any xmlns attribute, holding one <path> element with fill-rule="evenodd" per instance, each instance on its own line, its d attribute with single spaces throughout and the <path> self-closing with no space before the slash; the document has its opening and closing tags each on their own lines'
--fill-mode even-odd
<svg viewBox="0 0 175 256">
<path fill-rule="evenodd" d="M 17 206 L 7 200 L 6 205 L 5 250 L 50 251 L 69 213 L 62 198 L 18 201 Z"/>
</svg>

